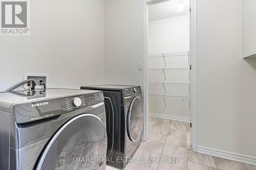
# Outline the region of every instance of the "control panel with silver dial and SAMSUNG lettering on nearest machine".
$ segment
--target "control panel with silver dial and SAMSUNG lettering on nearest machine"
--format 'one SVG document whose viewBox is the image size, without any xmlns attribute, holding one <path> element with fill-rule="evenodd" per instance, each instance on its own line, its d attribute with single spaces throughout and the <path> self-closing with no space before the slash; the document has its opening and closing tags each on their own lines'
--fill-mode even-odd
<svg viewBox="0 0 256 170">
<path fill-rule="evenodd" d="M 15 122 L 17 124 L 24 124 L 69 113 L 103 101 L 103 92 L 97 91 L 88 94 L 79 94 L 31 103 L 17 104 L 12 110 L 15 115 Z"/>
</svg>

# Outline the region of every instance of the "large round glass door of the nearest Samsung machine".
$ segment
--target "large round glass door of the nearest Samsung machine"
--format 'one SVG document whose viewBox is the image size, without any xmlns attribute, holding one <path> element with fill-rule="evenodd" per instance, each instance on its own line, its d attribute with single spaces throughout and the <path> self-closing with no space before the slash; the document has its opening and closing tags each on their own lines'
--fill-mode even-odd
<svg viewBox="0 0 256 170">
<path fill-rule="evenodd" d="M 81 114 L 63 125 L 49 141 L 36 170 L 104 169 L 106 129 L 99 117 Z"/>
</svg>

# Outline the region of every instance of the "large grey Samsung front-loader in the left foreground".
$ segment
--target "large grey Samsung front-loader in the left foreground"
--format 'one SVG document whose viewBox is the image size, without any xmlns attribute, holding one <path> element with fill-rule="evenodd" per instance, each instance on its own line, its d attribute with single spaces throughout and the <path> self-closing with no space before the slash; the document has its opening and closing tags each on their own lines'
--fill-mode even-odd
<svg viewBox="0 0 256 170">
<path fill-rule="evenodd" d="M 0 93 L 0 168 L 105 169 L 102 91 L 45 89 Z"/>
</svg>

